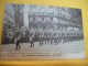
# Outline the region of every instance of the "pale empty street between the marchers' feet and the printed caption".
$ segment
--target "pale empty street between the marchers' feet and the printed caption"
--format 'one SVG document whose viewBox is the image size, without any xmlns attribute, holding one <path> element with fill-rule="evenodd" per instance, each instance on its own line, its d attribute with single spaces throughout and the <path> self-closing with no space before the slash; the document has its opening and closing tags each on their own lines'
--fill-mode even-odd
<svg viewBox="0 0 88 66">
<path fill-rule="evenodd" d="M 19 52 L 77 52 L 84 51 L 84 41 L 74 41 L 69 43 L 59 43 L 55 44 L 43 44 L 40 46 L 38 42 L 34 43 L 33 47 L 30 47 L 30 43 L 20 43 L 21 48 L 18 50 Z M 2 52 L 16 52 L 15 44 L 6 44 L 1 46 Z"/>
</svg>

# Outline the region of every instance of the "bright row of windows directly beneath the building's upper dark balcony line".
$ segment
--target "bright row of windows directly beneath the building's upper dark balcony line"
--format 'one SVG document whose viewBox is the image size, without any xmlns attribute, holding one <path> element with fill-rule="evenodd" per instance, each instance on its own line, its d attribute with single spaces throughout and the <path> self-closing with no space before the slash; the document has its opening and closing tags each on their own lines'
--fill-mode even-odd
<svg viewBox="0 0 88 66">
<path fill-rule="evenodd" d="M 37 23 L 63 23 L 63 24 L 72 24 L 72 25 L 78 25 L 80 26 L 80 23 L 74 22 L 66 19 L 59 19 L 59 18 L 29 18 L 29 22 L 37 22 Z"/>
</svg>

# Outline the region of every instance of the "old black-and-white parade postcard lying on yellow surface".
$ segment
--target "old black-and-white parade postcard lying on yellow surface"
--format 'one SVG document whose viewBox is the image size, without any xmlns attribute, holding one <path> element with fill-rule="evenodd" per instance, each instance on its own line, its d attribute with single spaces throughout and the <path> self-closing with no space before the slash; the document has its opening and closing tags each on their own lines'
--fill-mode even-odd
<svg viewBox="0 0 88 66">
<path fill-rule="evenodd" d="M 1 59 L 85 58 L 81 9 L 4 4 Z"/>
</svg>

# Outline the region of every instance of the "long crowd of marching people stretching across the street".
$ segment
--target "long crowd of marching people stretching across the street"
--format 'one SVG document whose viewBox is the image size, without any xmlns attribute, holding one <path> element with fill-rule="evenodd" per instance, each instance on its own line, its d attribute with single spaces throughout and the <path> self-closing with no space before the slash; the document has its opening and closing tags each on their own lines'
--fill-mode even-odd
<svg viewBox="0 0 88 66">
<path fill-rule="evenodd" d="M 22 31 L 8 31 L 4 32 L 3 44 L 12 44 L 14 40 L 20 40 L 19 43 L 31 43 L 31 47 L 34 46 L 34 42 L 40 42 L 40 45 L 43 44 L 59 44 L 66 42 L 73 42 L 82 40 L 81 32 L 74 31 L 50 31 L 50 30 L 37 30 L 37 29 L 26 29 Z"/>
</svg>

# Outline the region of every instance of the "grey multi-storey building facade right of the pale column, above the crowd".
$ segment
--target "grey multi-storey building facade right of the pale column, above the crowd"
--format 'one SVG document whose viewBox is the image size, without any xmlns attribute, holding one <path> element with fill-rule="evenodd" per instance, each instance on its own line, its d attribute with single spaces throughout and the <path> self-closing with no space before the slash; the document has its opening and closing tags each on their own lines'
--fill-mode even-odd
<svg viewBox="0 0 88 66">
<path fill-rule="evenodd" d="M 82 28 L 80 14 L 81 11 L 77 9 L 31 6 L 29 26 L 32 28 L 34 25 L 36 29 L 52 26 L 54 29 L 62 29 L 62 31 L 69 29 L 77 31 Z"/>
</svg>

